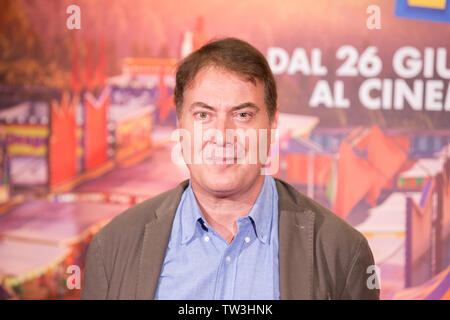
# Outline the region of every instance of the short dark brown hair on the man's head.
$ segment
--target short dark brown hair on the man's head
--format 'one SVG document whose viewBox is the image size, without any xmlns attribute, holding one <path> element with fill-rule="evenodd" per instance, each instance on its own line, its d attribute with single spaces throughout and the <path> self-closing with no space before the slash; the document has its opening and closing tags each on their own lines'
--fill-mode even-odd
<svg viewBox="0 0 450 320">
<path fill-rule="evenodd" d="M 174 99 L 178 117 L 181 116 L 183 95 L 200 69 L 208 66 L 224 68 L 256 84 L 264 83 L 264 101 L 269 119 L 277 106 L 277 88 L 272 71 L 264 55 L 249 43 L 225 38 L 213 40 L 184 58 L 177 69 Z"/>
</svg>

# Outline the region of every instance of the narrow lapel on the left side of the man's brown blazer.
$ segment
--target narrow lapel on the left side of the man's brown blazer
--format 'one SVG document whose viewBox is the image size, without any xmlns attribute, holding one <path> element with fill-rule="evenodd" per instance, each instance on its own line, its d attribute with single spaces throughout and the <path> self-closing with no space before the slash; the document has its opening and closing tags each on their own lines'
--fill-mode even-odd
<svg viewBox="0 0 450 320">
<path fill-rule="evenodd" d="M 154 298 L 170 240 L 173 219 L 188 183 L 183 181 L 173 190 L 173 195 L 166 196 L 155 210 L 155 217 L 145 225 L 136 285 L 137 300 Z"/>
</svg>

